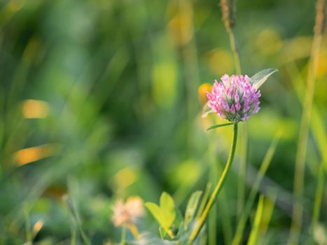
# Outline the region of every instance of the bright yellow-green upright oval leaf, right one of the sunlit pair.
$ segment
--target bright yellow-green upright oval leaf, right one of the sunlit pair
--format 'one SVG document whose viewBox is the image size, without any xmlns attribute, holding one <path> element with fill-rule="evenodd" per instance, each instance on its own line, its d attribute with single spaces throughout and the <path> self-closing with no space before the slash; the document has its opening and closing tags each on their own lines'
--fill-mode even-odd
<svg viewBox="0 0 327 245">
<path fill-rule="evenodd" d="M 176 217 L 175 212 L 175 204 L 174 200 L 168 193 L 162 193 L 160 196 L 160 209 L 162 211 L 163 216 L 163 224 L 162 226 L 164 228 L 169 229 L 169 227 L 174 222 L 174 219 Z"/>
</svg>

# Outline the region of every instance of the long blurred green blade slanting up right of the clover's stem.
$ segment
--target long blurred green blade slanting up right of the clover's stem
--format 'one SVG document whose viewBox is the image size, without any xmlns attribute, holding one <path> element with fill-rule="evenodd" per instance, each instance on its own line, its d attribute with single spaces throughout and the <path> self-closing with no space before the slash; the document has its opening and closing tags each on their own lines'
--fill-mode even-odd
<svg viewBox="0 0 327 245">
<path fill-rule="evenodd" d="M 237 229 L 234 238 L 232 239 L 232 245 L 238 245 L 242 241 L 243 237 L 243 231 L 246 225 L 246 220 L 249 217 L 251 208 L 253 206 L 253 202 L 256 198 L 256 193 L 258 192 L 258 188 L 260 186 L 260 183 L 263 179 L 263 176 L 265 175 L 265 172 L 267 172 L 267 169 L 270 165 L 270 162 L 272 161 L 272 157 L 274 156 L 274 152 L 276 151 L 277 144 L 279 141 L 279 138 L 281 136 L 280 132 L 277 132 L 276 136 L 274 137 L 274 140 L 270 144 L 270 147 L 267 150 L 267 153 L 265 154 L 265 158 L 263 158 L 263 162 L 260 166 L 258 176 L 256 176 L 256 181 L 254 182 L 251 192 L 249 194 L 249 198 L 246 201 L 244 213 L 242 214 L 239 223 L 237 224 Z"/>
</svg>

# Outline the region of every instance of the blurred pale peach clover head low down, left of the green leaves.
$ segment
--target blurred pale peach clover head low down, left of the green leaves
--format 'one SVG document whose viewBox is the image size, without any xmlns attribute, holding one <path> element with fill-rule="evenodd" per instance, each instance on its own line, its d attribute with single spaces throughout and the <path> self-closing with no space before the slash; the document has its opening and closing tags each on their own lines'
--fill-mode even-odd
<svg viewBox="0 0 327 245">
<path fill-rule="evenodd" d="M 143 200 L 141 200 L 141 197 L 129 197 L 125 203 L 123 200 L 118 200 L 112 209 L 113 225 L 116 227 L 124 223 L 134 223 L 136 218 L 144 214 Z"/>
</svg>

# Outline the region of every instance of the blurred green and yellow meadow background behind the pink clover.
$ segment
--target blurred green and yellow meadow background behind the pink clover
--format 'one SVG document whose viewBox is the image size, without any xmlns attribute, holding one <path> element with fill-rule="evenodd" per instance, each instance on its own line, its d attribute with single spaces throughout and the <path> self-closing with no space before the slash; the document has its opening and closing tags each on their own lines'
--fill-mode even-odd
<svg viewBox="0 0 327 245">
<path fill-rule="evenodd" d="M 277 196 L 260 244 L 286 244 L 291 224 L 314 4 L 237 1 L 235 35 L 243 72 L 252 76 L 279 69 L 261 87 L 260 112 L 246 123 L 245 199 L 253 174 L 281 131 L 260 188 Z M 1 244 L 25 243 L 26 230 L 32 230 L 35 244 L 70 244 L 74 236 L 83 244 L 71 210 L 92 244 L 117 242 L 120 229 L 113 227 L 111 205 L 118 197 L 139 195 L 158 202 L 165 190 L 183 210 L 190 193 L 216 181 L 227 159 L 231 128 L 205 132 L 219 120 L 201 118 L 198 87 L 235 72 L 218 1 L 3 0 L 0 28 Z M 326 71 L 324 36 L 301 244 L 318 241 L 309 225 L 318 169 L 327 159 Z M 211 245 L 228 244 L 234 233 L 238 169 L 239 148 L 209 218 Z M 327 228 L 326 198 L 324 189 L 321 230 Z M 244 242 L 252 221 L 253 214 Z M 158 225 L 147 215 L 139 230 L 158 234 Z M 326 241 L 326 233 L 319 234 Z"/>
</svg>

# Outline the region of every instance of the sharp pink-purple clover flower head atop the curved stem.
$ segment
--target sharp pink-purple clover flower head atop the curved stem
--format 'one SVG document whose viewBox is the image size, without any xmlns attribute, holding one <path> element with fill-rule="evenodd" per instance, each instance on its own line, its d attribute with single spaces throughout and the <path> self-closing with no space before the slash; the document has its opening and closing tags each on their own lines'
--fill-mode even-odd
<svg viewBox="0 0 327 245">
<path fill-rule="evenodd" d="M 237 123 L 258 113 L 260 96 L 260 90 L 250 83 L 249 76 L 225 74 L 219 83 L 215 80 L 211 93 L 207 92 L 207 105 L 221 118 Z"/>
</svg>

